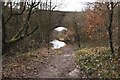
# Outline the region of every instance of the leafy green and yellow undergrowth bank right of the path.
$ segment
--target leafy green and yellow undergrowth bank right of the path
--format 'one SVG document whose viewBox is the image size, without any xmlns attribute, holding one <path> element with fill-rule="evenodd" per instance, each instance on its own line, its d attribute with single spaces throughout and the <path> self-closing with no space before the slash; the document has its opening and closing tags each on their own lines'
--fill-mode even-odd
<svg viewBox="0 0 120 80">
<path fill-rule="evenodd" d="M 108 47 L 83 48 L 77 51 L 76 62 L 90 78 L 120 78 L 120 57 L 112 56 Z"/>
</svg>

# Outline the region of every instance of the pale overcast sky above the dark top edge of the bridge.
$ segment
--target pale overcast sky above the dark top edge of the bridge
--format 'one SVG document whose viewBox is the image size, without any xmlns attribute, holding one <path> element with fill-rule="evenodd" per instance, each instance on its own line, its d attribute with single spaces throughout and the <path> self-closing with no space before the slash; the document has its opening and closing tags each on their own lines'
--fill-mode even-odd
<svg viewBox="0 0 120 80">
<path fill-rule="evenodd" d="M 5 0 L 3 0 L 3 1 L 5 1 Z M 16 0 L 11 0 L 11 1 L 16 1 Z M 24 1 L 24 0 L 17 0 L 17 1 Z M 31 1 L 31 0 L 28 0 L 28 1 Z M 46 0 L 41 0 L 41 1 L 46 1 Z M 62 6 L 56 8 L 56 10 L 77 11 L 78 12 L 78 11 L 85 10 L 85 8 L 87 7 L 87 5 L 85 5 L 86 2 L 95 2 L 96 0 L 52 0 L 52 1 L 57 2 L 58 4 L 62 2 Z M 98 0 L 98 1 L 106 2 L 108 0 Z M 118 1 L 118 0 L 114 0 L 114 1 Z"/>
</svg>

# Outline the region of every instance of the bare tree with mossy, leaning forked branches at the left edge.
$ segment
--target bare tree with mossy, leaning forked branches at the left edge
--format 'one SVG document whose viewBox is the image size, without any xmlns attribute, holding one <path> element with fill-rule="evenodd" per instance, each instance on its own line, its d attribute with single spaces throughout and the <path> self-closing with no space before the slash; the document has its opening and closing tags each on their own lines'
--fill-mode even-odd
<svg viewBox="0 0 120 80">
<path fill-rule="evenodd" d="M 4 14 L 2 14 L 2 43 L 3 43 L 3 46 L 2 46 L 2 50 L 3 52 L 5 51 L 5 49 L 9 48 L 11 45 L 23 40 L 24 38 L 30 36 L 31 34 L 33 34 L 38 26 L 36 26 L 32 31 L 28 31 L 28 28 L 29 28 L 29 20 L 30 20 L 30 17 L 31 17 L 31 14 L 32 14 L 32 11 L 33 9 L 39 4 L 40 2 L 31 2 L 28 3 L 28 2 L 24 2 L 24 4 L 22 3 L 20 7 L 23 7 L 23 9 L 18 12 L 18 13 L 14 13 L 13 11 L 13 7 L 14 7 L 14 4 L 13 2 L 8 2 L 8 4 L 10 5 L 10 12 L 9 12 L 9 17 L 7 17 L 7 19 L 5 19 L 5 16 Z M 27 7 L 29 7 L 27 9 Z M 21 8 L 20 8 L 21 9 Z M 12 19 L 12 17 L 14 16 L 19 16 L 19 15 L 23 15 L 23 13 L 26 11 L 26 9 L 28 10 L 28 13 L 27 13 L 27 16 L 25 18 L 25 21 L 23 23 L 23 25 L 21 26 L 21 28 L 17 31 L 17 33 L 10 39 L 10 40 L 6 40 L 7 36 L 6 36 L 6 25 L 8 24 L 8 22 Z"/>
</svg>

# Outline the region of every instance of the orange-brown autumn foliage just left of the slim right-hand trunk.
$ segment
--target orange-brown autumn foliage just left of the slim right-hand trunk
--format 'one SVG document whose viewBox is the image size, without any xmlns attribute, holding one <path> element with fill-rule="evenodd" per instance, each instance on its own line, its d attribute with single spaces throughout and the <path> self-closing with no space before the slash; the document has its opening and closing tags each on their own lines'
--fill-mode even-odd
<svg viewBox="0 0 120 80">
<path fill-rule="evenodd" d="M 106 38 L 104 30 L 105 16 L 102 11 L 97 9 L 87 10 L 85 13 L 85 27 L 82 28 L 89 41 L 100 42 L 101 38 Z"/>
</svg>

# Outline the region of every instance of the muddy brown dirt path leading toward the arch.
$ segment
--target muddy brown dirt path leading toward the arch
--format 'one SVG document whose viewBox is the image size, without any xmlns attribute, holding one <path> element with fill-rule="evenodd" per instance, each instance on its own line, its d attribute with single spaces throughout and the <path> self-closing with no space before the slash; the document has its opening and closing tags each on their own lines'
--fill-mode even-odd
<svg viewBox="0 0 120 80">
<path fill-rule="evenodd" d="M 36 77 L 39 78 L 58 78 L 58 77 L 78 77 L 71 72 L 76 68 L 75 47 L 66 46 L 62 48 L 62 54 L 53 56 L 43 65 Z M 78 71 L 77 71 L 78 72 Z M 74 75 L 75 74 L 75 75 Z"/>
</svg>

